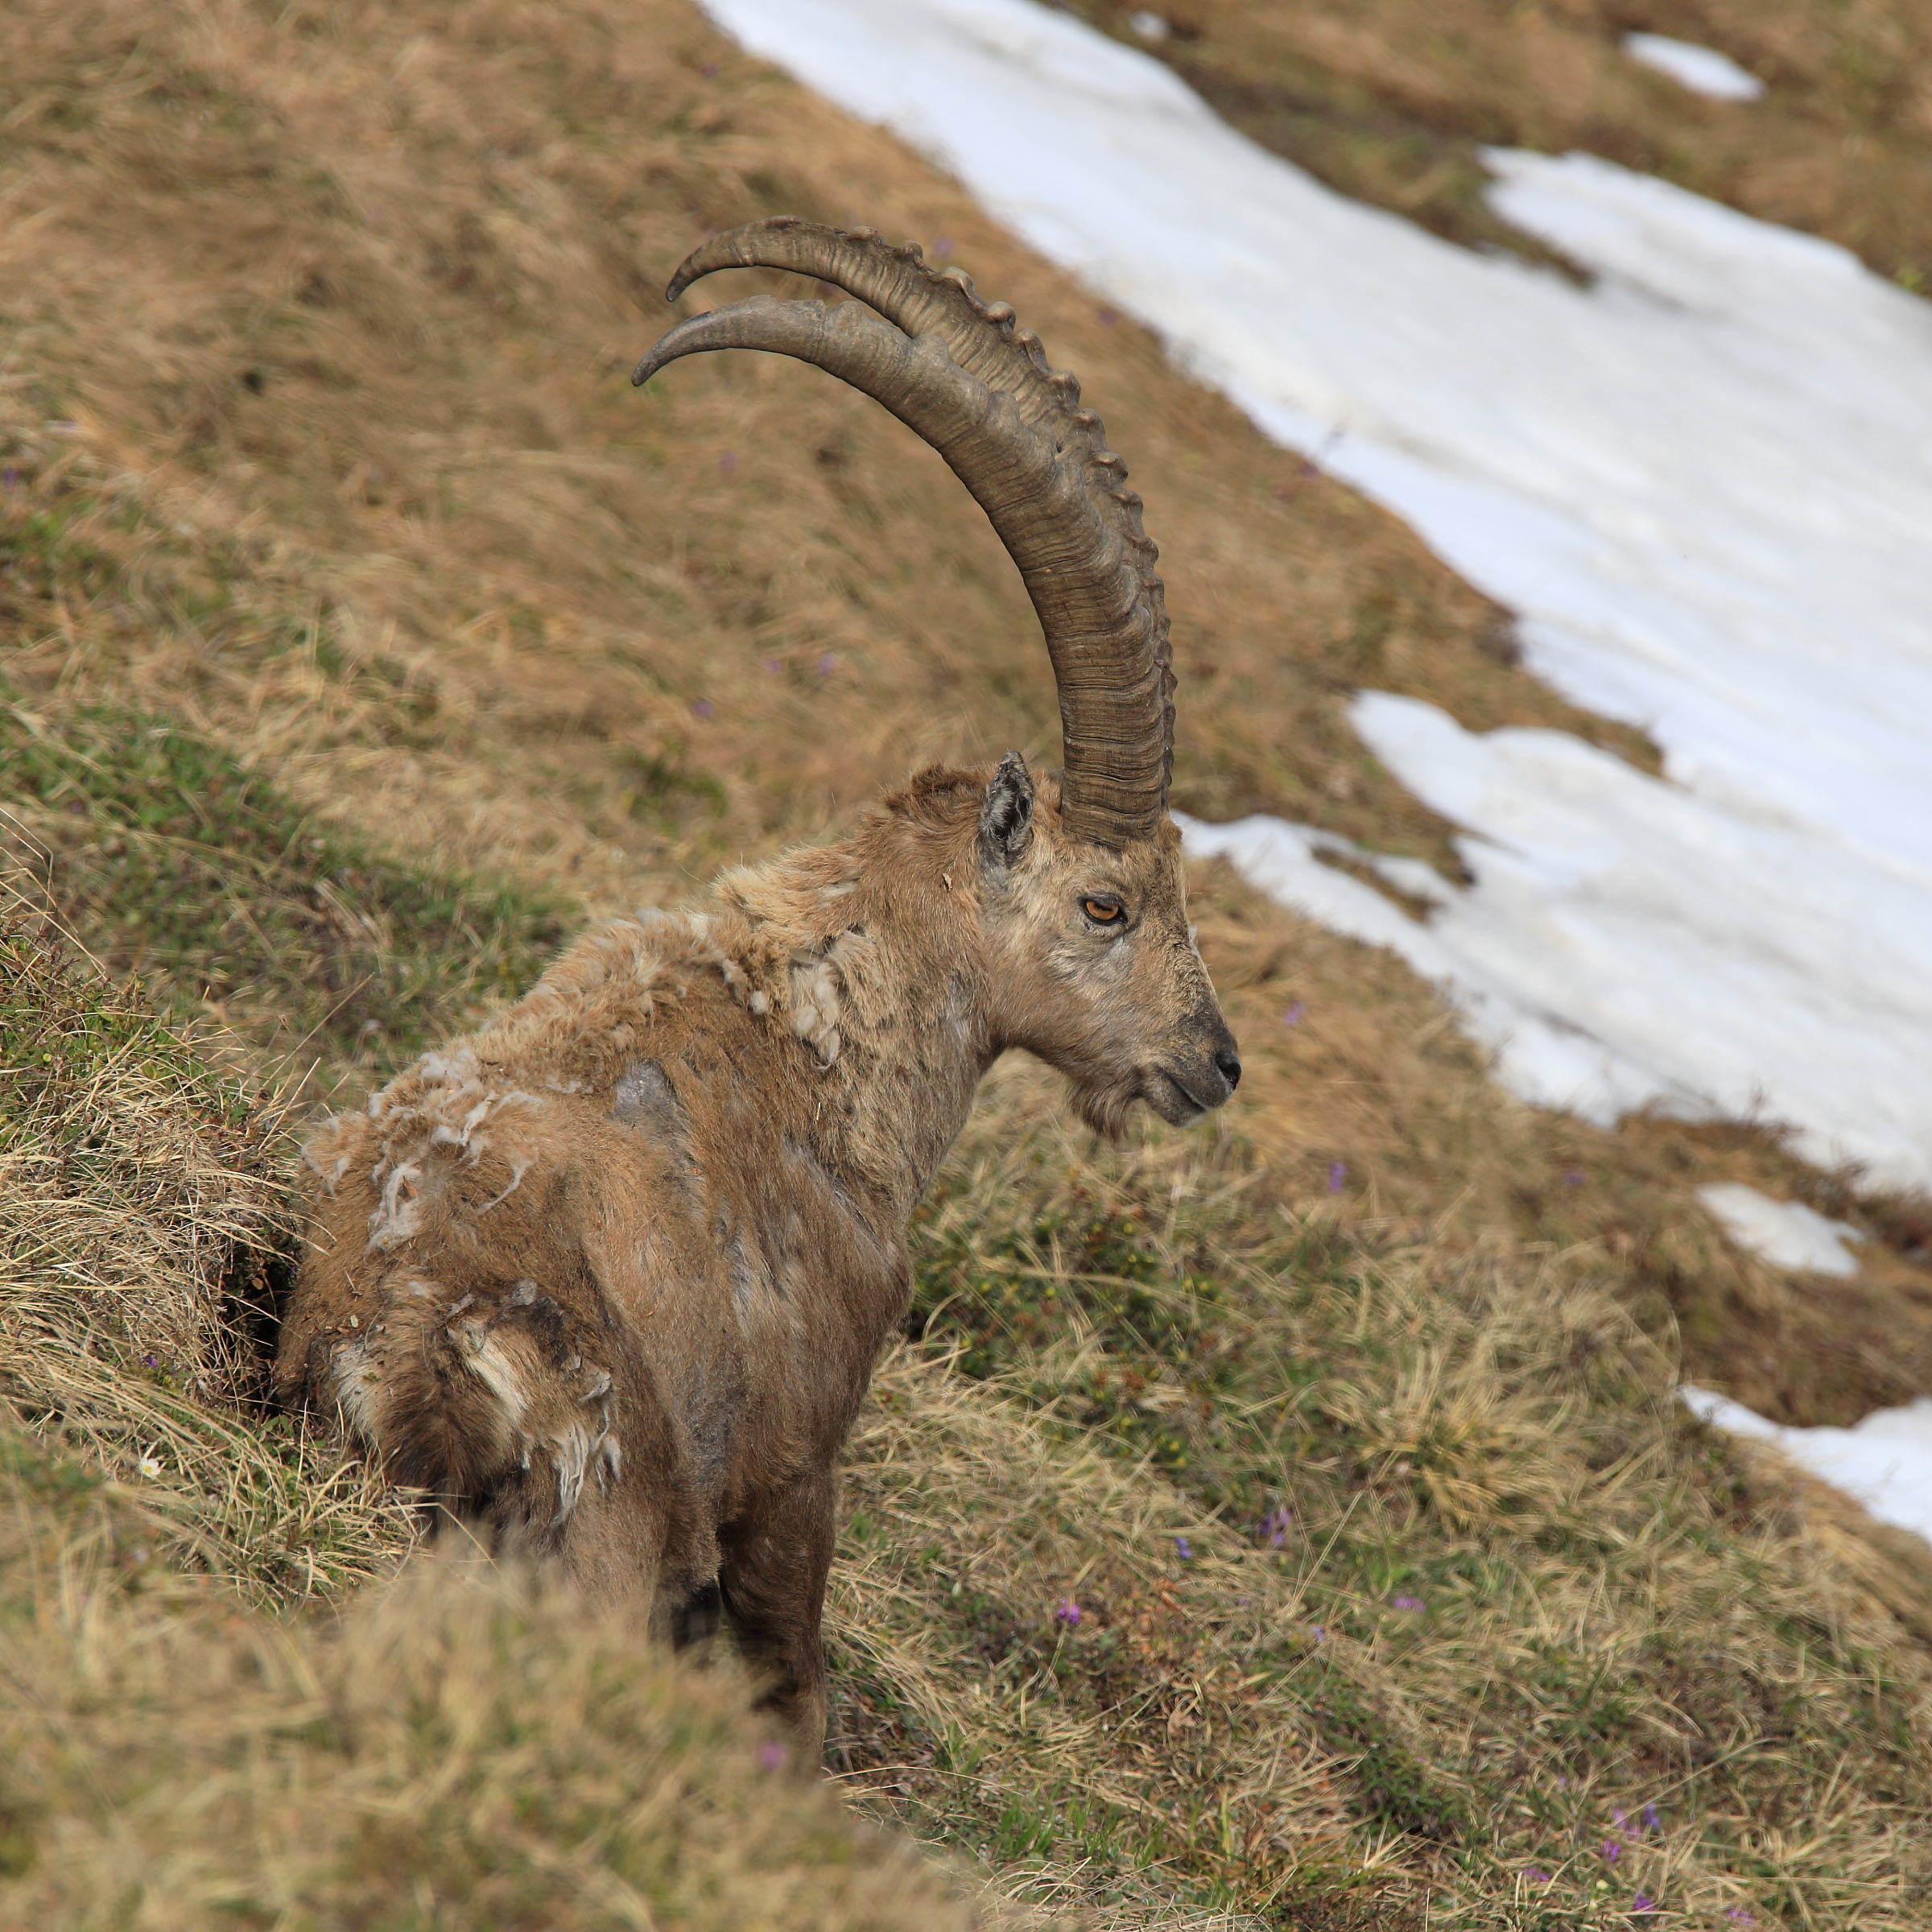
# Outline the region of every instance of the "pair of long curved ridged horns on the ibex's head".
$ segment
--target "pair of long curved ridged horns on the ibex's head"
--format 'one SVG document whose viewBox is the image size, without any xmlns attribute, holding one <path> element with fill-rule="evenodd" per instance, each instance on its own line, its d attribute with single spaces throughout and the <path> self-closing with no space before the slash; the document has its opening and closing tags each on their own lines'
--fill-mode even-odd
<svg viewBox="0 0 1932 1932">
<path fill-rule="evenodd" d="M 672 328 L 632 375 L 680 355 L 750 348 L 817 363 L 923 437 L 972 491 L 1026 582 L 1061 696 L 1068 827 L 1105 846 L 1146 838 L 1167 804 L 1175 676 L 1155 549 L 1126 466 L 1107 448 L 1080 384 L 1047 367 L 1039 338 L 958 270 L 933 272 L 914 243 L 788 216 L 713 236 L 678 269 L 668 299 L 715 269 L 790 269 L 852 303 L 736 301 Z"/>
</svg>

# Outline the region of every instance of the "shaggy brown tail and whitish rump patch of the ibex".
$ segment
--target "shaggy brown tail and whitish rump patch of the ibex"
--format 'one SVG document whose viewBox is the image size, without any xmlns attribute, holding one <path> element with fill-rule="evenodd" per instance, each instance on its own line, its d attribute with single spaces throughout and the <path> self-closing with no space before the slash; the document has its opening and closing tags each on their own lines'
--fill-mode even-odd
<svg viewBox="0 0 1932 1932">
<path fill-rule="evenodd" d="M 554 1548 L 585 1484 L 620 1468 L 616 1391 L 580 1323 L 535 1281 L 450 1296 L 415 1269 L 384 1283 L 383 1314 L 309 1350 L 311 1399 L 406 1488 L 487 1522 L 497 1542 Z"/>
</svg>

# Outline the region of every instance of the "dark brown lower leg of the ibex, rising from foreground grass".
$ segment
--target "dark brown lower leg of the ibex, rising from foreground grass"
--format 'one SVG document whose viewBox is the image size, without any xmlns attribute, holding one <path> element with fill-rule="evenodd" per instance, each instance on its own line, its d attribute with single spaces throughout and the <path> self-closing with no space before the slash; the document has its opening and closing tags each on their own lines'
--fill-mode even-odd
<svg viewBox="0 0 1932 1932">
<path fill-rule="evenodd" d="M 761 1499 L 723 1538 L 724 1611 L 746 1662 L 767 1679 L 759 1700 L 792 1733 L 800 1766 L 825 1754 L 825 1578 L 833 1561 L 831 1470 Z"/>
</svg>

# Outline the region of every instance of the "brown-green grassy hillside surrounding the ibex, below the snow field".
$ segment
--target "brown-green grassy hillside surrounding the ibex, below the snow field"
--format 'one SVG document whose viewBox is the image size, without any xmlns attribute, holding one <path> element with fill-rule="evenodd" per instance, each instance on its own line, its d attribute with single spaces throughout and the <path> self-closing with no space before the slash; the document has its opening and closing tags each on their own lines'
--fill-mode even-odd
<svg viewBox="0 0 1932 1932">
<path fill-rule="evenodd" d="M 974 1870 L 1119 1926 L 1924 1922 L 1924 1555 L 1669 1391 L 1932 1389 L 1932 1215 L 1758 1128 L 1524 1109 L 1399 962 L 1219 867 L 1240 1103 L 1107 1150 L 1003 1068 L 922 1217 L 835 1578 L 846 1810 L 761 1781 L 728 1677 L 560 1605 L 323 1621 L 410 1528 L 253 1406 L 303 1113 L 585 916 L 1055 750 L 937 458 L 777 359 L 630 392 L 707 228 L 918 236 L 1080 371 L 1167 553 L 1192 810 L 1447 860 L 1364 682 L 1650 752 L 668 0 L 21 0 L 0 209 L 0 1922 L 923 1926 Z M 1729 1250 L 1718 1179 L 1861 1219 L 1859 1281 Z"/>
</svg>

